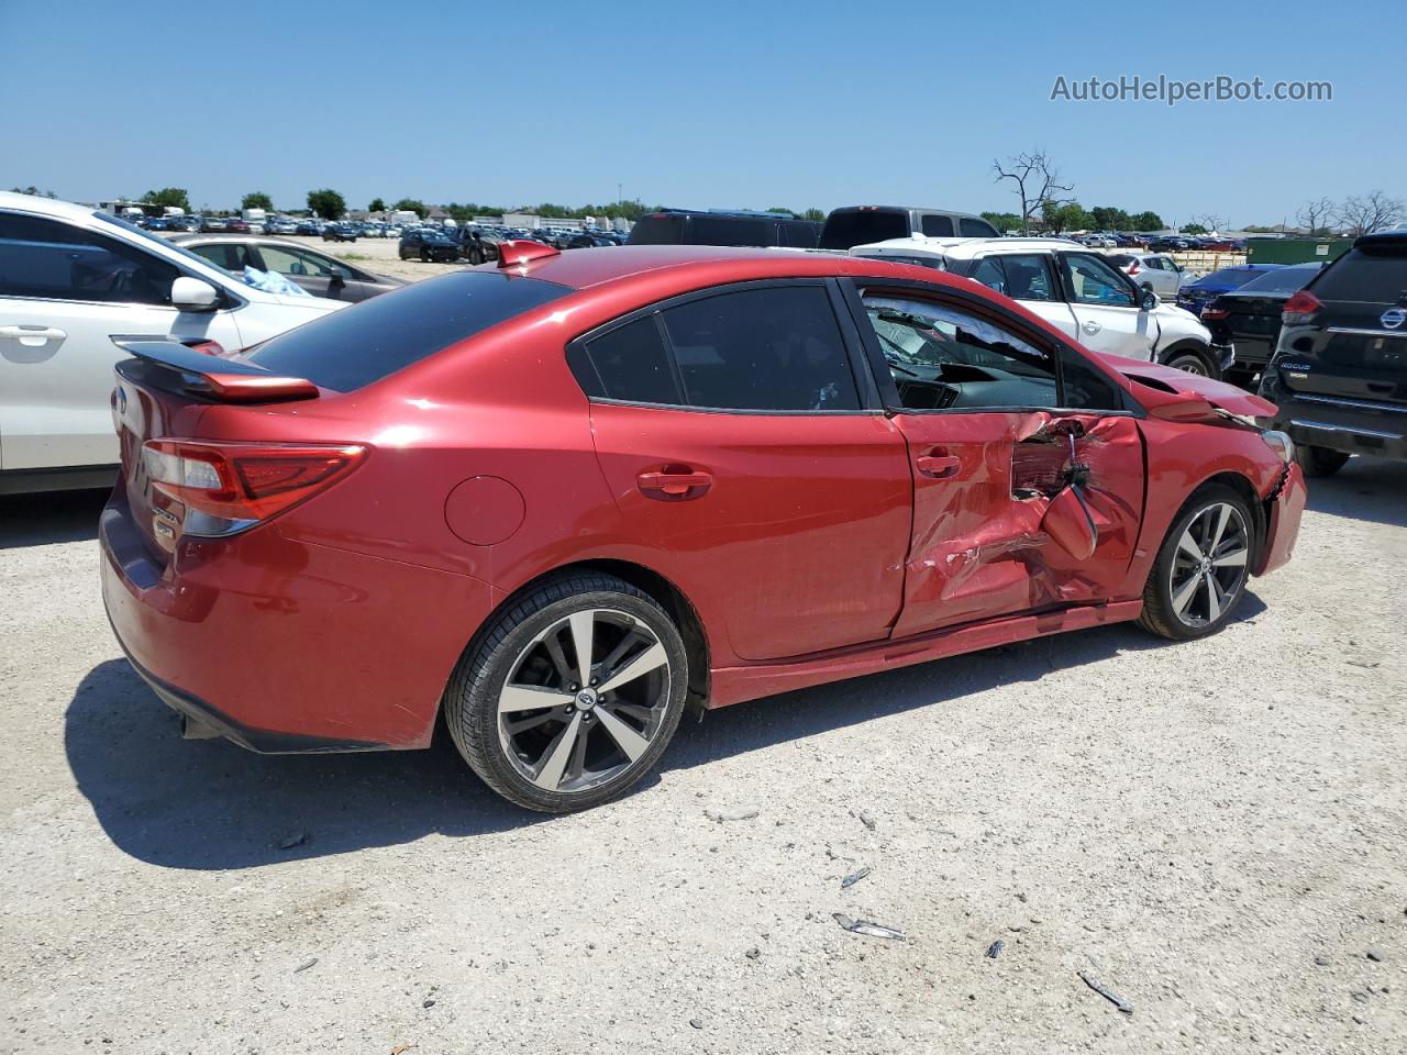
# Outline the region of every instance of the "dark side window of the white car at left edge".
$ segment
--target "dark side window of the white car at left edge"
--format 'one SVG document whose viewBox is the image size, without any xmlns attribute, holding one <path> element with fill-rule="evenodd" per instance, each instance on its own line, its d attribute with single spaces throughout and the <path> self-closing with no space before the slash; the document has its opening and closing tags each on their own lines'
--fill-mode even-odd
<svg viewBox="0 0 1407 1055">
<path fill-rule="evenodd" d="M 165 260 L 83 228 L 0 214 L 0 295 L 170 305 L 179 276 Z"/>
</svg>

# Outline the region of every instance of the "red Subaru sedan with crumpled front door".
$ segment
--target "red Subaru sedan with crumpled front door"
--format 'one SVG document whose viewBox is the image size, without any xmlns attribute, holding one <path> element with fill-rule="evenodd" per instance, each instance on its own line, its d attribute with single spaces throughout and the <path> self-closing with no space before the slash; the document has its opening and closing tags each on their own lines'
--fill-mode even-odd
<svg viewBox="0 0 1407 1055">
<path fill-rule="evenodd" d="M 103 595 L 190 736 L 622 793 L 719 708 L 1137 619 L 1290 557 L 1271 405 L 930 269 L 505 243 L 243 357 L 120 343 Z"/>
</svg>

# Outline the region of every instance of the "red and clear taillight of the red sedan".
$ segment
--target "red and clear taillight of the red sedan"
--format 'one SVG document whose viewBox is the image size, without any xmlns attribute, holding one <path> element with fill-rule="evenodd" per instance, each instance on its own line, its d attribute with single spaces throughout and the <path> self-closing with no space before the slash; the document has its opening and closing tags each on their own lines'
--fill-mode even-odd
<svg viewBox="0 0 1407 1055">
<path fill-rule="evenodd" d="M 152 487 L 186 509 L 184 535 L 221 537 L 253 528 L 356 468 L 366 447 L 305 443 L 148 440 Z"/>
</svg>

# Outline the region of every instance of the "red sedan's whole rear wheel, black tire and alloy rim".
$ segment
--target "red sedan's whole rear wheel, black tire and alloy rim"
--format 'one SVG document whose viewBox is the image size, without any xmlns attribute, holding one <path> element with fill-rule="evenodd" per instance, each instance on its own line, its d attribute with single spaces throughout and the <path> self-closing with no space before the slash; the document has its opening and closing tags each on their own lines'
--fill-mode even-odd
<svg viewBox="0 0 1407 1055">
<path fill-rule="evenodd" d="M 464 761 L 526 809 L 567 813 L 629 791 L 684 712 L 688 656 L 654 598 L 601 574 L 547 580 L 460 660 L 445 720 Z"/>
</svg>

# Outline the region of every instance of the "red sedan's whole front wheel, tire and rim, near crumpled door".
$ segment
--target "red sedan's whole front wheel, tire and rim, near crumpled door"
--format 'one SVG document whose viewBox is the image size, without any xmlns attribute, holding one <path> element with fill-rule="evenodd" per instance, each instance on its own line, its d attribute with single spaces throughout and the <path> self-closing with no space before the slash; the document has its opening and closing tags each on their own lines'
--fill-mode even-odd
<svg viewBox="0 0 1407 1055">
<path fill-rule="evenodd" d="M 1173 641 L 1225 626 L 1245 594 L 1254 523 L 1245 499 L 1230 487 L 1196 491 L 1158 549 L 1138 623 Z"/>
</svg>

